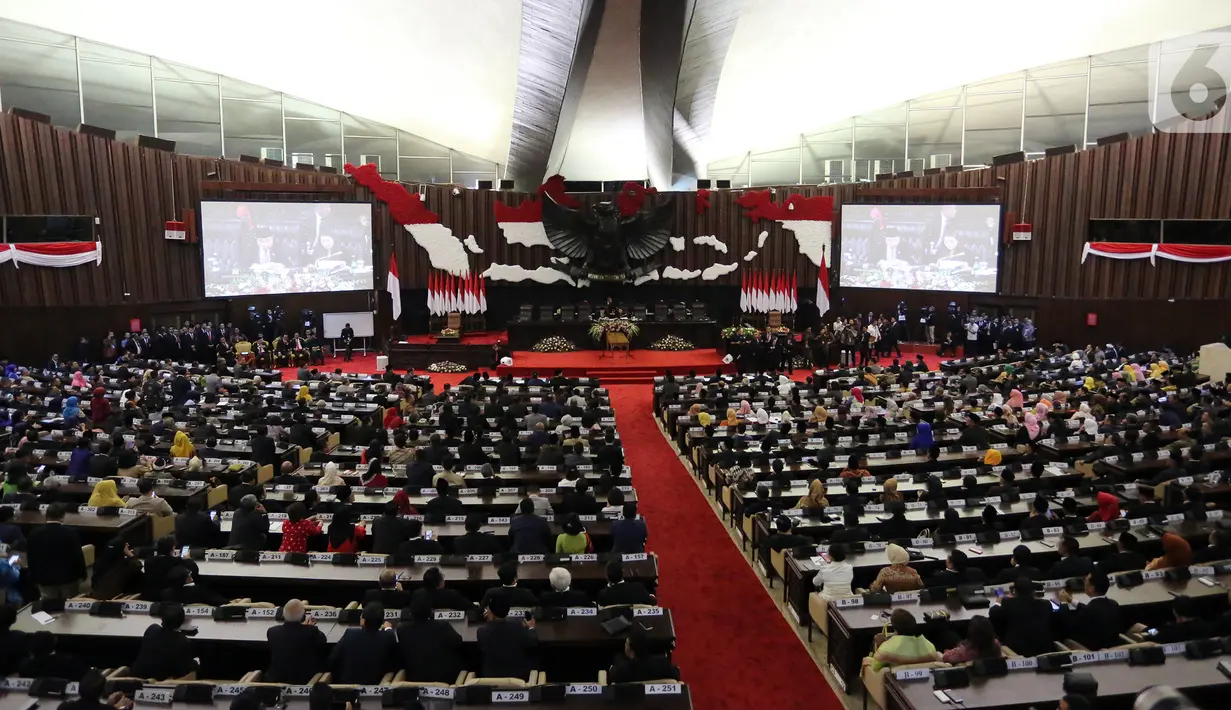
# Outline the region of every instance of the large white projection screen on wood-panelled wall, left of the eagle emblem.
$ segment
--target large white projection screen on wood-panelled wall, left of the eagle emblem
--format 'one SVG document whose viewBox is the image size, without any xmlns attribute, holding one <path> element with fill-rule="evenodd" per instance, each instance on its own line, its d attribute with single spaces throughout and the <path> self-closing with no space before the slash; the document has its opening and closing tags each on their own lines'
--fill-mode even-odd
<svg viewBox="0 0 1231 710">
<path fill-rule="evenodd" d="M 202 202 L 206 298 L 372 290 L 372 205 Z"/>
</svg>

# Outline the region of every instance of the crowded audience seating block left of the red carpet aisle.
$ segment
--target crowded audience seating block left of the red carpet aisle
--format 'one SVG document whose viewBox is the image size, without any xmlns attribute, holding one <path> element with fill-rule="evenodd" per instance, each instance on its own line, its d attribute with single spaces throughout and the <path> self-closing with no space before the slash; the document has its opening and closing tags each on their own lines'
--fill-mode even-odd
<svg viewBox="0 0 1231 710">
<path fill-rule="evenodd" d="M 10 689 L 691 706 L 597 380 L 202 373 L 0 383 Z"/>
</svg>

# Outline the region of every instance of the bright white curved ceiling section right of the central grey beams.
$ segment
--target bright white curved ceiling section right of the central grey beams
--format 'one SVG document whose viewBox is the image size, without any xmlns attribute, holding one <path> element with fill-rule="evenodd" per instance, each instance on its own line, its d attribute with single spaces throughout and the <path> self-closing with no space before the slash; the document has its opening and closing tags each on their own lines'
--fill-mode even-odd
<svg viewBox="0 0 1231 710">
<path fill-rule="evenodd" d="M 792 145 L 907 98 L 1227 25 L 1231 2 L 1211 0 L 748 0 L 705 156 Z"/>
</svg>

